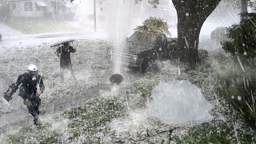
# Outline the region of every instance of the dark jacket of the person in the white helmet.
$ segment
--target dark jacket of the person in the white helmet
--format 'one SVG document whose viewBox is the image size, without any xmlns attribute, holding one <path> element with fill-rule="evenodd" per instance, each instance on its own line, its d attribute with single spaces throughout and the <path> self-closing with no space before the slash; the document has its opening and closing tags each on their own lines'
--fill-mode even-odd
<svg viewBox="0 0 256 144">
<path fill-rule="evenodd" d="M 37 77 L 31 76 L 29 73 L 19 75 L 12 89 L 18 90 L 20 84 L 22 84 L 22 86 L 20 86 L 18 95 L 22 96 L 22 98 L 27 97 L 28 95 L 30 96 L 31 94 L 36 94 L 38 89 L 37 85 L 42 92 L 45 90 L 42 77 L 39 74 Z"/>
</svg>

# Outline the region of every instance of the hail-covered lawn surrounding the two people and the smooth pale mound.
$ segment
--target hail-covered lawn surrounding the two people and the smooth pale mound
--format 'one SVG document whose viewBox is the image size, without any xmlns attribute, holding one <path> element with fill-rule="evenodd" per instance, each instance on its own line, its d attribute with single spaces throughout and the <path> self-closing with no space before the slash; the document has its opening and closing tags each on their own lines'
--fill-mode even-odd
<svg viewBox="0 0 256 144">
<path fill-rule="evenodd" d="M 111 63 L 104 54 L 108 42 L 79 41 L 78 53 L 72 56 L 78 82 L 66 74 L 62 85 L 58 78 L 58 61 L 48 46 L 6 49 L 14 57 L 3 57 L 3 73 L 16 78 L 30 62 L 38 64 L 45 75 L 46 92 L 42 94 L 42 126 L 33 126 L 32 117 L 26 116 L 21 130 L 16 133 L 2 126 L 2 142 L 19 143 L 247 143 L 255 142 L 254 131 L 247 128 L 242 118 L 223 98 L 215 93 L 217 71 L 210 66 L 212 57 L 202 63 L 202 69 L 186 71 L 178 63 L 158 62 L 160 71 L 138 76 L 123 70 L 124 82 L 112 86 L 108 78 Z M 206 46 L 210 43 L 206 42 Z M 203 47 L 202 47 L 203 49 Z M 79 51 L 80 50 L 80 51 Z M 18 58 L 18 54 L 27 54 Z M 15 57 L 16 56 L 16 57 Z M 26 62 L 30 60 L 30 62 Z M 19 65 L 18 65 L 19 64 Z M 17 71 L 14 71 L 17 70 Z M 160 82 L 190 82 L 198 87 L 203 98 L 213 106 L 209 111 L 211 122 L 188 126 L 172 126 L 162 122 L 150 111 L 154 102 L 151 91 Z M 93 95 L 93 97 L 91 97 Z M 90 99 L 90 100 L 89 100 Z M 168 102 L 166 102 L 168 103 Z M 170 114 L 167 114 L 171 118 Z M 163 114 L 164 115 L 164 114 Z M 2 115 L 3 121 L 5 114 Z M 13 118 L 24 117 L 13 115 Z M 22 121 L 24 122 L 24 121 Z M 19 123 L 21 125 L 21 123 Z M 1 141 L 0 141 L 1 142 Z"/>
</svg>

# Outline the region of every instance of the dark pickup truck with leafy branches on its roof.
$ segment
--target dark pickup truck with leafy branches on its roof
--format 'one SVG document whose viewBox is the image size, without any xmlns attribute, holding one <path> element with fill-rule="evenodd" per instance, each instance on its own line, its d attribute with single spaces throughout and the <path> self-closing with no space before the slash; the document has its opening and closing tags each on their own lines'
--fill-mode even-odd
<svg viewBox="0 0 256 144">
<path fill-rule="evenodd" d="M 107 55 L 112 61 L 121 59 L 122 64 L 129 69 L 146 73 L 155 60 L 174 56 L 177 50 L 177 38 L 167 38 L 166 34 L 142 34 L 135 31 L 130 38 L 126 38 L 123 47 L 120 50 L 114 49 L 113 46 L 107 47 Z M 203 54 L 207 53 L 206 50 L 204 51 Z M 198 53 L 202 52 L 198 51 Z"/>
</svg>

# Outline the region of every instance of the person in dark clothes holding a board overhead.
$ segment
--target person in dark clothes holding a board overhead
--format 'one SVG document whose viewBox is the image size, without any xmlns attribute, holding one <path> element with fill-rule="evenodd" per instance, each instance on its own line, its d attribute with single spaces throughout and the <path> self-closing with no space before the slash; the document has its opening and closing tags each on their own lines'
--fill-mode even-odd
<svg viewBox="0 0 256 144">
<path fill-rule="evenodd" d="M 60 75 L 61 75 L 61 80 L 64 82 L 64 70 L 70 70 L 74 80 L 76 80 L 75 75 L 74 75 L 74 70 L 73 66 L 71 64 L 71 58 L 70 58 L 70 53 L 74 53 L 77 50 L 74 49 L 74 47 L 70 46 L 69 42 L 64 42 L 63 46 L 58 47 L 57 49 L 57 56 L 60 56 Z"/>
</svg>

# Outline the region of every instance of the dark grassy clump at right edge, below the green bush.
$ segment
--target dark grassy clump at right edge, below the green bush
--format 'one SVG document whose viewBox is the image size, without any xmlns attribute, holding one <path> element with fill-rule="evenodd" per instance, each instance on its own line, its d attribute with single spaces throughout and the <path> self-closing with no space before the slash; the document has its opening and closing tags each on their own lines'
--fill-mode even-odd
<svg viewBox="0 0 256 144">
<path fill-rule="evenodd" d="M 225 64 L 225 61 L 221 64 L 222 70 L 228 72 L 218 74 L 216 93 L 243 116 L 248 126 L 256 130 L 255 70 L 246 61 L 247 59 L 241 58 L 241 60 L 246 73 L 242 72 L 242 70 L 230 68 L 228 66 L 229 64 Z M 239 66 L 236 58 L 234 58 L 234 64 L 232 66 Z"/>
</svg>

